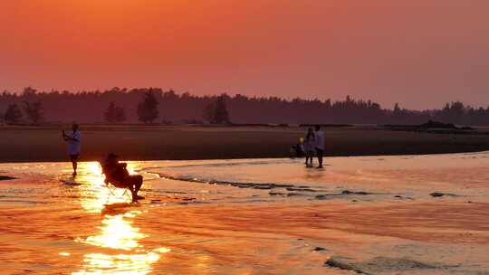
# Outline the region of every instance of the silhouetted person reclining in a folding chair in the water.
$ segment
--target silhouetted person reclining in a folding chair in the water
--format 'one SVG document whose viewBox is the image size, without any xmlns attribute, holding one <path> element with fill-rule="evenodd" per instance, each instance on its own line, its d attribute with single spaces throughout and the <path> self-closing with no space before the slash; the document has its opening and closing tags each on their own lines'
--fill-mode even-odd
<svg viewBox="0 0 489 275">
<path fill-rule="evenodd" d="M 132 194 L 132 200 L 144 199 L 139 196 L 143 178 L 142 175 L 129 175 L 128 164 L 120 163 L 118 156 L 110 153 L 102 164 L 102 173 L 105 175 L 105 184 L 112 184 L 118 188 L 128 188 Z"/>
</svg>

